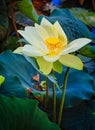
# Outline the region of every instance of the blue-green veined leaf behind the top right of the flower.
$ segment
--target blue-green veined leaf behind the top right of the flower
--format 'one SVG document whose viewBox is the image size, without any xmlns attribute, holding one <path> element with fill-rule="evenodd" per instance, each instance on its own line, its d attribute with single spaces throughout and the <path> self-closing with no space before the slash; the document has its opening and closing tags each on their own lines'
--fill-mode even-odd
<svg viewBox="0 0 95 130">
<path fill-rule="evenodd" d="M 43 16 L 39 17 L 39 22 Z M 54 23 L 58 21 L 65 31 L 69 41 L 76 38 L 88 37 L 90 36 L 90 31 L 87 26 L 82 23 L 79 19 L 76 19 L 69 9 L 55 9 L 49 17 L 46 17 L 50 22 Z"/>
</svg>

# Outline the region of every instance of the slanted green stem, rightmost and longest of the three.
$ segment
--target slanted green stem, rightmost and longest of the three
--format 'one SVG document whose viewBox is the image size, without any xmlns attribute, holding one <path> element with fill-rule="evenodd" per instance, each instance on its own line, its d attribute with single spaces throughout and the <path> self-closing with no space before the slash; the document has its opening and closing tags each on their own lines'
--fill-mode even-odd
<svg viewBox="0 0 95 130">
<path fill-rule="evenodd" d="M 60 126 L 61 119 L 62 119 L 62 112 L 63 112 L 63 107 L 64 107 L 66 86 L 67 86 L 67 79 L 68 79 L 69 70 L 70 70 L 70 68 L 68 67 L 67 70 L 66 70 L 66 73 L 65 73 L 65 77 L 64 77 L 63 92 L 62 92 L 61 104 L 60 104 L 60 109 L 59 109 L 59 117 L 58 117 L 58 126 Z"/>
</svg>

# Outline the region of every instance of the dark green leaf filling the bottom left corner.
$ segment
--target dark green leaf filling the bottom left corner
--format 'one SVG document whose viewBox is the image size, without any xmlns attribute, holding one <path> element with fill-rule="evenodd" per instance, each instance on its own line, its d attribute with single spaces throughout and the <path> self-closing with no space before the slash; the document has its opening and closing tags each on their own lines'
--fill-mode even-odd
<svg viewBox="0 0 95 130">
<path fill-rule="evenodd" d="M 0 130 L 60 130 L 49 121 L 38 102 L 0 95 Z"/>
</svg>

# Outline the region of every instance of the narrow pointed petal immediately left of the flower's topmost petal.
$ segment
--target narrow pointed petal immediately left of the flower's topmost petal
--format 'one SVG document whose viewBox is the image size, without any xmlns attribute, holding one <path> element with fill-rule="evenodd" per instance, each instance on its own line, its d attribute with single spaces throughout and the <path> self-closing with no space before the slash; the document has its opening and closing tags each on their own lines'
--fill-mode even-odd
<svg viewBox="0 0 95 130">
<path fill-rule="evenodd" d="M 47 31 L 42 26 L 35 23 L 35 28 L 44 41 L 49 37 Z"/>
</svg>

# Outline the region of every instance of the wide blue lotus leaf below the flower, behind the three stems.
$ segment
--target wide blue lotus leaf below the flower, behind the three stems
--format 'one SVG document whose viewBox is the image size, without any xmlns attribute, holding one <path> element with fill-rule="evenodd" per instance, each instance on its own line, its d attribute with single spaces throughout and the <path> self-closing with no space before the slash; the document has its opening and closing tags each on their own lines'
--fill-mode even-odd
<svg viewBox="0 0 95 130">
<path fill-rule="evenodd" d="M 6 77 L 5 81 L 9 79 L 9 76 L 15 76 L 17 77 L 17 79 L 19 79 L 20 82 L 19 86 L 22 86 L 21 87 L 22 89 L 30 88 L 31 91 L 34 93 L 34 95 L 36 96 L 38 95 L 40 96 L 40 98 L 45 97 L 45 91 L 38 91 L 35 89 L 35 86 L 33 86 L 35 84 L 34 80 L 32 79 L 34 75 L 39 74 L 40 80 L 41 81 L 45 80 L 45 76 L 37 71 L 37 66 L 35 62 L 33 62 L 33 60 L 30 60 L 30 62 L 28 62 L 24 56 L 14 54 L 10 51 L 6 51 L 5 53 L 0 55 L 0 66 L 1 66 L 0 74 Z M 61 90 L 56 90 L 58 104 L 60 103 L 61 94 L 63 91 L 62 84 L 64 80 L 65 71 L 66 68 L 63 67 L 63 73 L 55 75 L 58 79 L 59 87 L 61 88 Z M 52 106 L 51 84 L 52 83 L 49 81 L 49 98 L 50 98 L 50 104 Z M 2 86 L 3 85 L 5 86 L 5 84 L 2 84 Z M 10 84 L 10 86 L 11 87 L 8 87 L 6 85 L 6 89 L 5 87 L 0 87 L 0 89 L 2 89 L 1 93 L 5 92 L 6 94 L 8 94 L 9 91 L 11 91 L 9 95 L 12 92 L 14 95 L 17 94 L 17 91 L 19 93 L 19 89 L 18 90 L 16 89 L 15 84 L 12 83 Z M 71 69 L 69 72 L 67 82 L 65 107 L 73 107 L 83 102 L 84 100 L 90 100 L 94 93 L 93 86 L 94 86 L 93 78 L 89 76 L 88 73 L 84 71 Z M 12 90 L 12 87 L 15 89 Z M 41 100 L 44 99 L 42 98 Z"/>
</svg>

